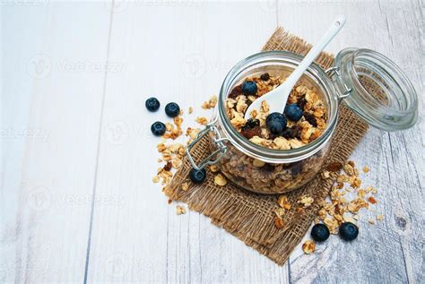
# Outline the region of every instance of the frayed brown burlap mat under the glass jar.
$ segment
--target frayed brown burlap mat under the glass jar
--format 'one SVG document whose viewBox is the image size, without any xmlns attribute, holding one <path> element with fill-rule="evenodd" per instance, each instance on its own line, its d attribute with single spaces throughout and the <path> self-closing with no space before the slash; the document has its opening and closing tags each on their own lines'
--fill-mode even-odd
<svg viewBox="0 0 425 284">
<path fill-rule="evenodd" d="M 288 50 L 305 55 L 310 47 L 311 45 L 303 39 L 278 28 L 263 50 Z M 333 61 L 334 57 L 325 53 L 316 60 L 323 68 L 330 67 Z M 366 123 L 348 108 L 341 106 L 338 125 L 326 160 L 329 163 L 344 163 L 367 130 Z M 208 154 L 209 146 L 206 139 L 197 143 L 192 150 L 196 160 L 203 159 Z M 190 168 L 190 163 L 185 159 L 182 168 L 178 170 L 165 191 L 169 198 L 186 202 L 189 209 L 208 216 L 213 224 L 226 229 L 279 265 L 288 259 L 292 249 L 304 237 L 316 217 L 319 203 L 325 199 L 334 184 L 333 179 L 322 179 L 317 175 L 308 185 L 286 194 L 292 209 L 287 211 L 283 218 L 284 227 L 278 229 L 274 226 L 275 211 L 278 209 L 276 195 L 252 194 L 231 183 L 225 186 L 214 185 L 214 174 L 209 170 L 204 184 L 193 185 L 189 182 L 189 188 L 183 191 L 181 184 L 187 180 Z M 303 194 L 312 196 L 315 202 L 305 211 L 299 212 L 296 211 L 297 201 Z"/>
</svg>

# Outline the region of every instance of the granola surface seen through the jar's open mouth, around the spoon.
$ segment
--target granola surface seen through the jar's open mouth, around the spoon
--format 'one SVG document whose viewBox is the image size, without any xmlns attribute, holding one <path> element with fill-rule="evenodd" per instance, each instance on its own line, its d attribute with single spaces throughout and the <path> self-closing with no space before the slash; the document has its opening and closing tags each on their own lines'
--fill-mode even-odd
<svg viewBox="0 0 425 284">
<path fill-rule="evenodd" d="M 247 77 L 245 82 L 256 82 L 256 94 L 244 94 L 240 84 L 230 91 L 226 99 L 226 108 L 230 123 L 249 141 L 269 149 L 290 150 L 313 142 L 325 131 L 327 126 L 325 103 L 315 90 L 310 90 L 302 84 L 292 89 L 287 105 L 297 104 L 302 109 L 303 115 L 299 121 L 288 119 L 287 128 L 282 135 L 270 133 L 265 125 L 270 110 L 266 101 L 262 102 L 260 109 L 255 109 L 249 114 L 249 119 L 245 119 L 248 106 L 279 86 L 283 80 L 278 75 L 271 76 L 265 73 L 259 77 Z"/>
</svg>

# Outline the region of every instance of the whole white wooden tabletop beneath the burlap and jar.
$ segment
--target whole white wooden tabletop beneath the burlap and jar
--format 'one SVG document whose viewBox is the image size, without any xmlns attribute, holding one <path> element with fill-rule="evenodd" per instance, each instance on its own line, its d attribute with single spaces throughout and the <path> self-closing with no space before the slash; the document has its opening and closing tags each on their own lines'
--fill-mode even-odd
<svg viewBox="0 0 425 284">
<path fill-rule="evenodd" d="M 177 216 L 152 176 L 155 96 L 205 115 L 224 75 L 277 25 L 392 58 L 423 94 L 421 1 L 4 0 L 0 282 L 423 282 L 425 125 L 371 129 L 352 159 L 379 189 L 360 237 L 278 267 L 208 219 Z M 424 104 L 421 103 L 421 109 Z M 369 216 L 384 213 L 375 226 Z"/>
</svg>

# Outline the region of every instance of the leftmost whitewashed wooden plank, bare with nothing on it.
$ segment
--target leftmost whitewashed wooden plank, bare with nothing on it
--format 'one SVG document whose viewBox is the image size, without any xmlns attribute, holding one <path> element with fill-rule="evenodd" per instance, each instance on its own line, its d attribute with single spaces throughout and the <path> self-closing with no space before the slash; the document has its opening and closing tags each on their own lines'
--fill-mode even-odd
<svg viewBox="0 0 425 284">
<path fill-rule="evenodd" d="M 11 130 L 2 137 L 0 281 L 81 282 L 110 12 L 99 3 L 1 6 L 2 127 Z"/>
</svg>

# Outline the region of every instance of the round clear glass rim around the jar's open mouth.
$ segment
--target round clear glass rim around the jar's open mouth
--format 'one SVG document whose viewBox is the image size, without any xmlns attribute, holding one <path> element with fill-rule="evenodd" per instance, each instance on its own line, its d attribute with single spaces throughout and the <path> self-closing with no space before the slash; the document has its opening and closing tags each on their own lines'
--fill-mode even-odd
<svg viewBox="0 0 425 284">
<path fill-rule="evenodd" d="M 230 138 L 230 142 L 239 149 L 239 151 L 244 151 L 248 156 L 251 156 L 256 159 L 264 160 L 265 162 L 270 163 L 290 163 L 299 161 L 301 159 L 307 159 L 308 157 L 320 151 L 325 143 L 329 141 L 337 121 L 337 112 L 338 112 L 338 100 L 337 96 L 334 96 L 335 90 L 334 85 L 331 80 L 326 75 L 324 69 L 313 63 L 308 67 L 306 73 L 309 76 L 313 76 L 317 79 L 317 84 L 325 90 L 323 94 L 326 96 L 328 101 L 328 121 L 325 132 L 320 135 L 315 141 L 310 142 L 304 146 L 301 146 L 296 149 L 291 150 L 273 150 L 268 149 L 259 145 L 256 145 L 254 142 L 250 142 L 246 137 L 240 134 L 230 123 L 230 119 L 227 116 L 227 111 L 225 108 L 224 101 L 227 99 L 230 91 L 230 87 L 233 86 L 235 79 L 239 76 L 240 73 L 246 71 L 249 67 L 260 65 L 264 63 L 272 63 L 278 65 L 281 63 L 286 63 L 286 66 L 298 65 L 303 59 L 303 56 L 289 52 L 289 51 L 264 51 L 256 53 L 252 56 L 239 61 L 239 63 L 233 68 L 230 69 L 230 72 L 226 75 L 220 90 L 219 106 L 218 106 L 218 121 L 221 125 L 221 129 Z"/>
</svg>

